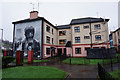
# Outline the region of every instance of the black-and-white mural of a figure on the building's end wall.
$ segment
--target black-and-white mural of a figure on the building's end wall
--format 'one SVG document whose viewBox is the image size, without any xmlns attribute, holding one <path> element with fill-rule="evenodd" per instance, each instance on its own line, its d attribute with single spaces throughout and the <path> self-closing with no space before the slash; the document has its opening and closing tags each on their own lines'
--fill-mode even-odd
<svg viewBox="0 0 120 80">
<path fill-rule="evenodd" d="M 23 25 L 23 24 L 22 24 Z M 28 25 L 28 24 L 27 24 Z M 24 57 L 28 56 L 28 50 L 33 50 L 34 57 L 41 57 L 41 28 L 39 25 L 29 24 L 27 27 L 16 25 L 15 32 L 15 52 L 24 51 Z M 23 26 L 26 26 L 24 24 Z M 38 27 L 39 26 L 39 27 Z"/>
</svg>

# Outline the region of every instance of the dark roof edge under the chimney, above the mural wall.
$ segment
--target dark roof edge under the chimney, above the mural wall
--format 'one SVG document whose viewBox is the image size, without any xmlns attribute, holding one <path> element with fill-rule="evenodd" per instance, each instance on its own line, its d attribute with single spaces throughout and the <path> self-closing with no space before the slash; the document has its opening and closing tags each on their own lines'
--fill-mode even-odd
<svg viewBox="0 0 120 80">
<path fill-rule="evenodd" d="M 19 20 L 19 21 L 16 21 L 16 22 L 12 22 L 12 24 L 18 24 L 18 23 L 25 23 L 25 22 L 32 22 L 32 21 L 38 21 L 38 20 L 43 20 L 45 22 L 47 22 L 48 24 L 50 24 L 51 26 L 53 26 L 54 28 L 56 28 L 52 23 L 50 23 L 48 20 L 46 20 L 44 17 L 38 17 L 38 18 L 35 18 L 35 19 L 24 19 L 24 20 Z"/>
</svg>

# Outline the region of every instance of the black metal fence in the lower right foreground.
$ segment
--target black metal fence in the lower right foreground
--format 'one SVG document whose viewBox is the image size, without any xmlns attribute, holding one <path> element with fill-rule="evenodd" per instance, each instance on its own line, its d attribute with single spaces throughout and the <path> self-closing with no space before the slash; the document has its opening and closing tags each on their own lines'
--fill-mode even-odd
<svg viewBox="0 0 120 80">
<path fill-rule="evenodd" d="M 98 63 L 98 75 L 100 80 L 115 80 L 101 65 Z"/>
</svg>

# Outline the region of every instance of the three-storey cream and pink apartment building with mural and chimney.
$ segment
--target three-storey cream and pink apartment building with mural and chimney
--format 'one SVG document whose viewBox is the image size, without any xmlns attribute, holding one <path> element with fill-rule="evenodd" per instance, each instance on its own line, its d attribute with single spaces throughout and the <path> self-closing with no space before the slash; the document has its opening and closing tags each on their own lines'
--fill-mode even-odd
<svg viewBox="0 0 120 80">
<path fill-rule="evenodd" d="M 38 17 L 37 11 L 32 11 L 30 18 L 13 22 L 13 49 L 23 50 L 24 56 L 27 50 L 33 50 L 34 56 L 41 58 L 64 54 L 86 57 L 89 48 L 109 47 L 108 21 L 86 17 L 72 19 L 67 25 L 54 26 L 45 18 Z M 72 50 L 65 47 L 68 41 L 72 42 Z"/>
</svg>

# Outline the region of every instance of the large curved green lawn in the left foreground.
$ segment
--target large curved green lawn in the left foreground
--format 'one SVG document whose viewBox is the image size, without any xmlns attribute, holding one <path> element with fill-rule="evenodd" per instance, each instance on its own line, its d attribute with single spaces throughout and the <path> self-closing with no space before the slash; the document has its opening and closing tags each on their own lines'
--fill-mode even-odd
<svg viewBox="0 0 120 80">
<path fill-rule="evenodd" d="M 64 78 L 66 72 L 55 67 L 22 66 L 5 68 L 2 70 L 3 78 Z"/>
</svg>

